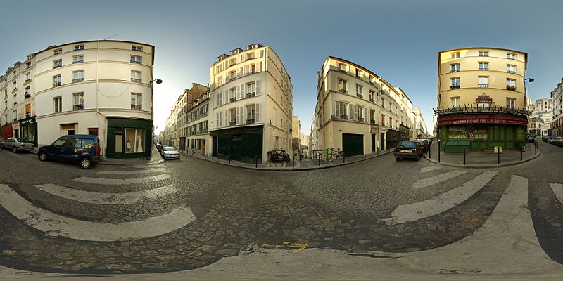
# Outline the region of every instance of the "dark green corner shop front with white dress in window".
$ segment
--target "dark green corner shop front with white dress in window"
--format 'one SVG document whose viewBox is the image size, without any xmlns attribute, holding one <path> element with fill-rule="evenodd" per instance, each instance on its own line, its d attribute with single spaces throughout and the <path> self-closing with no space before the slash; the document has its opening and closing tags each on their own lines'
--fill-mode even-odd
<svg viewBox="0 0 563 281">
<path fill-rule="evenodd" d="M 107 158 L 151 157 L 153 120 L 108 117 Z"/>
</svg>

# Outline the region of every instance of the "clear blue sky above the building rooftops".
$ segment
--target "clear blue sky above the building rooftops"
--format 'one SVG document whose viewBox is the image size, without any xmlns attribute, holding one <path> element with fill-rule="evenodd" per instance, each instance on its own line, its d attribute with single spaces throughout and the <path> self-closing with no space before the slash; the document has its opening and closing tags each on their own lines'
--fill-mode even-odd
<svg viewBox="0 0 563 281">
<path fill-rule="evenodd" d="M 309 133 L 316 73 L 328 55 L 351 60 L 419 105 L 429 130 L 437 52 L 467 46 L 529 54 L 533 100 L 563 77 L 563 1 L 5 1 L 0 72 L 46 46 L 112 39 L 156 46 L 155 125 L 191 82 L 209 83 L 217 55 L 272 46 L 293 82 L 293 115 Z"/>
</svg>

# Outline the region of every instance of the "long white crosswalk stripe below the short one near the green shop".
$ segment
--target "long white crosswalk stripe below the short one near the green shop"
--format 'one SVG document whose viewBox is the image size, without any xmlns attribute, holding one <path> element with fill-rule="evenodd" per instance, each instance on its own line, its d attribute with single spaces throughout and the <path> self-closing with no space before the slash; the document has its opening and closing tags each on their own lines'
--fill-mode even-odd
<svg viewBox="0 0 563 281">
<path fill-rule="evenodd" d="M 427 218 L 447 211 L 474 195 L 475 192 L 491 181 L 496 174 L 498 174 L 498 171 L 486 171 L 476 178 L 467 181 L 467 183 L 429 200 L 400 205 L 391 213 L 393 220 L 388 221 L 388 223 L 418 221 L 421 218 Z"/>
</svg>

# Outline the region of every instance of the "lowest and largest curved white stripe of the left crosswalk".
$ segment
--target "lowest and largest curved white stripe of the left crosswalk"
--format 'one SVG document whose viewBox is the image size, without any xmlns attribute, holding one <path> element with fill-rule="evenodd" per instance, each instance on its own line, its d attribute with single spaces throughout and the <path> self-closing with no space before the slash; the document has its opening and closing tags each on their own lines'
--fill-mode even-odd
<svg viewBox="0 0 563 281">
<path fill-rule="evenodd" d="M 168 214 L 145 221 L 117 224 L 80 221 L 36 207 L 8 185 L 0 185 L 0 204 L 16 218 L 51 237 L 62 236 L 87 241 L 125 241 L 154 237 L 170 233 L 196 220 L 189 207 L 179 207 Z"/>
</svg>

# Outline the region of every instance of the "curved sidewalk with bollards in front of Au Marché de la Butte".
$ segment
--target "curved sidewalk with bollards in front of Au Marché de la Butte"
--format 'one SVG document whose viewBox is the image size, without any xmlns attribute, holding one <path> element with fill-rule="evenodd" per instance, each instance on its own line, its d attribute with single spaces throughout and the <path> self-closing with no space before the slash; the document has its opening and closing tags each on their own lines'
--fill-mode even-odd
<svg viewBox="0 0 563 281">
<path fill-rule="evenodd" d="M 521 153 L 522 159 L 520 160 L 519 150 L 502 150 L 500 155 L 493 153 L 492 150 L 486 151 L 470 151 L 465 153 L 465 165 L 463 163 L 463 153 L 445 153 L 440 152 L 440 162 L 438 163 L 438 143 L 434 141 L 431 146 L 431 152 L 426 153 L 424 158 L 430 162 L 441 164 L 445 166 L 456 166 L 466 168 L 492 168 L 498 166 L 512 166 L 520 163 L 530 161 L 539 157 L 541 153 L 534 152 L 534 144 L 527 143 L 526 150 Z M 500 156 L 500 157 L 499 157 Z M 500 164 L 498 164 L 500 158 Z"/>
</svg>

